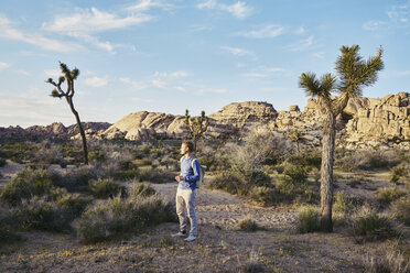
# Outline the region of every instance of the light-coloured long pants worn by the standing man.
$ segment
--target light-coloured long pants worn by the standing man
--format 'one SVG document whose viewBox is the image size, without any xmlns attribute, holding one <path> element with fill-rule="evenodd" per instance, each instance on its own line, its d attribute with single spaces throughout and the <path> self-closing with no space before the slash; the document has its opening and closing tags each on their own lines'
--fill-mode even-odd
<svg viewBox="0 0 410 273">
<path fill-rule="evenodd" d="M 186 218 L 190 218 L 190 236 L 197 236 L 198 222 L 195 214 L 196 190 L 177 188 L 176 190 L 176 214 L 180 218 L 180 231 L 186 231 Z"/>
</svg>

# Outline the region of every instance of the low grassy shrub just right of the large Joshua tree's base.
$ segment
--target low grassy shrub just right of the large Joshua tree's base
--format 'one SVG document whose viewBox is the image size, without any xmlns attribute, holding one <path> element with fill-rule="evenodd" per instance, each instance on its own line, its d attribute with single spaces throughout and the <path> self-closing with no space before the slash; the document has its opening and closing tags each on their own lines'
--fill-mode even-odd
<svg viewBox="0 0 410 273">
<path fill-rule="evenodd" d="M 356 240 L 373 241 L 397 236 L 387 217 L 378 215 L 368 205 L 353 215 L 350 219 L 352 234 Z"/>
</svg>

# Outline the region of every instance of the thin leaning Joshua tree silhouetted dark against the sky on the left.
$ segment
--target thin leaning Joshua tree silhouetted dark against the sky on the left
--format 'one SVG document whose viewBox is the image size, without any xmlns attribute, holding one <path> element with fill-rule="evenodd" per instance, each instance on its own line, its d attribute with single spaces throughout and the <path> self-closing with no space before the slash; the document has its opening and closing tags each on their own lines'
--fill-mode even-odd
<svg viewBox="0 0 410 273">
<path fill-rule="evenodd" d="M 79 75 L 79 70 L 78 70 L 78 68 L 74 68 L 73 70 L 71 70 L 67 67 L 67 65 L 65 65 L 61 62 L 60 62 L 60 67 L 62 69 L 63 76 L 61 76 L 58 78 L 58 83 L 55 83 L 52 78 L 48 78 L 46 83 L 48 83 L 48 84 L 51 84 L 55 87 L 55 89 L 53 89 L 51 96 L 54 97 L 54 98 L 60 98 L 60 99 L 62 97 L 65 97 L 65 99 L 66 99 L 66 101 L 69 106 L 69 109 L 74 113 L 75 119 L 77 121 L 78 131 L 79 131 L 79 134 L 82 135 L 82 140 L 83 140 L 84 163 L 88 164 L 87 140 L 86 140 L 86 136 L 85 136 L 85 133 L 84 133 L 82 121 L 79 120 L 78 112 L 75 110 L 74 102 L 73 102 L 74 80 L 77 79 L 77 77 Z M 64 81 L 67 81 L 66 91 L 63 91 L 63 89 L 62 89 L 62 84 Z"/>
</svg>

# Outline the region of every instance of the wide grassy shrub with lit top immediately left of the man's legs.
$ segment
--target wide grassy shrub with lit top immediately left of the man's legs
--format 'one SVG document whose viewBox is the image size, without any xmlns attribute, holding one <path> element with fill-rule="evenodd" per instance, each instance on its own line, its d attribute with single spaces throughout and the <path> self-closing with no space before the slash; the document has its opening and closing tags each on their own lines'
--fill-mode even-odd
<svg viewBox="0 0 410 273">
<path fill-rule="evenodd" d="M 147 198 L 116 197 L 88 207 L 75 223 L 86 243 L 138 233 L 147 227 L 175 221 L 172 207 L 158 195 Z"/>
</svg>

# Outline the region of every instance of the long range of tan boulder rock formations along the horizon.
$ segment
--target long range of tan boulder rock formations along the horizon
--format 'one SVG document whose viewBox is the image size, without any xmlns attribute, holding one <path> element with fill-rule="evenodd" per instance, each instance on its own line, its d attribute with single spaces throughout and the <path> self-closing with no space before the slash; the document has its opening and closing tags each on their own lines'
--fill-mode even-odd
<svg viewBox="0 0 410 273">
<path fill-rule="evenodd" d="M 304 145 L 320 145 L 322 118 L 314 99 L 309 99 L 303 111 L 298 106 L 289 111 L 277 111 L 268 102 L 233 102 L 211 113 L 205 133 L 211 138 L 244 135 L 255 127 L 287 135 L 292 130 L 301 131 Z M 149 140 L 152 138 L 183 139 L 187 129 L 183 116 L 140 111 L 130 113 L 115 124 L 88 122 L 84 128 L 88 138 Z M 410 146 L 410 94 L 388 95 L 382 99 L 357 98 L 349 100 L 344 112 L 337 117 L 338 139 L 354 145 L 381 142 L 400 142 Z M 48 138 L 79 138 L 76 125 L 65 128 L 62 123 L 47 127 L 0 128 L 4 135 L 45 135 Z M 401 144 L 400 144 L 401 145 Z"/>
</svg>

